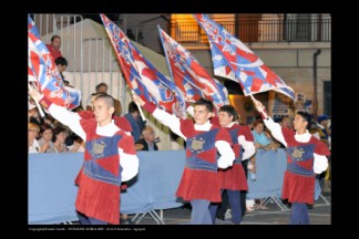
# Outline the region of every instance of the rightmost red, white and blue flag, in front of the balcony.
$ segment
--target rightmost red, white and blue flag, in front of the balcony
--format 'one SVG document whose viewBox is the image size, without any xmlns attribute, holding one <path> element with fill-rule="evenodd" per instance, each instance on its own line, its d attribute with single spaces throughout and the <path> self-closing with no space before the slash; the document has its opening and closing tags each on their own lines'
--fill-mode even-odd
<svg viewBox="0 0 359 239">
<path fill-rule="evenodd" d="M 215 75 L 238 82 L 245 95 L 275 90 L 295 98 L 291 87 L 242 41 L 206 14 L 194 18 L 208 37 Z"/>
</svg>

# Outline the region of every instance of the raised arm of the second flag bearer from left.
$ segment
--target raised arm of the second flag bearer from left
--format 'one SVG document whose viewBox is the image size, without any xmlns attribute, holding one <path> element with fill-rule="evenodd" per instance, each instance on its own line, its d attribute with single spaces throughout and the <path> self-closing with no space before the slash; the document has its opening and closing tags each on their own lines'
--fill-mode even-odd
<svg viewBox="0 0 359 239">
<path fill-rule="evenodd" d="M 153 103 L 146 103 L 144 102 L 140 96 L 133 94 L 133 101 L 137 104 L 140 104 L 141 106 L 143 106 L 143 108 L 145 111 L 147 111 L 150 114 L 152 114 L 158 122 L 161 122 L 162 124 L 168 126 L 171 128 L 171 131 L 173 131 L 173 133 L 177 134 L 178 136 L 181 136 L 184 139 L 187 139 L 181 132 L 181 124 L 180 124 L 180 118 L 176 117 L 175 115 L 168 114 L 167 112 L 157 108 L 156 105 L 154 105 Z"/>
</svg>

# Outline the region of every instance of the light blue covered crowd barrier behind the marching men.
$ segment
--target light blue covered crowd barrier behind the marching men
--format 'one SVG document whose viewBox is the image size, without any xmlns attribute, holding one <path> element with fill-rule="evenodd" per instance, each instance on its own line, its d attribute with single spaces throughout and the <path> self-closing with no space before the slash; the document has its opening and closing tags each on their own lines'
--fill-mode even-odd
<svg viewBox="0 0 359 239">
<path fill-rule="evenodd" d="M 176 208 L 184 204 L 175 197 L 175 193 L 185 164 L 185 150 L 137 152 L 137 156 L 140 172 L 129 181 L 127 191 L 121 195 L 121 212 L 137 216 L 155 214 L 152 217 L 158 220 L 157 224 L 163 224 L 155 210 Z M 74 178 L 82 162 L 83 153 L 29 155 L 30 225 L 79 220 L 74 208 L 78 193 Z M 286 152 L 257 150 L 256 167 L 257 179 L 248 179 L 247 197 L 279 198 Z"/>
</svg>

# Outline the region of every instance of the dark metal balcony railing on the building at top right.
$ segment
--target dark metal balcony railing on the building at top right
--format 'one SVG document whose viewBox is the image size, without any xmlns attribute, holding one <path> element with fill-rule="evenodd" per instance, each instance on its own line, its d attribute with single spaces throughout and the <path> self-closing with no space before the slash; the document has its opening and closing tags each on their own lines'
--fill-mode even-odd
<svg viewBox="0 0 359 239">
<path fill-rule="evenodd" d="M 234 20 L 217 20 L 230 34 L 243 42 L 330 42 L 331 18 L 239 20 L 236 32 Z M 196 22 L 175 22 L 175 35 L 180 43 L 208 43 L 206 33 Z M 173 32 L 173 31 L 172 31 Z"/>
</svg>

